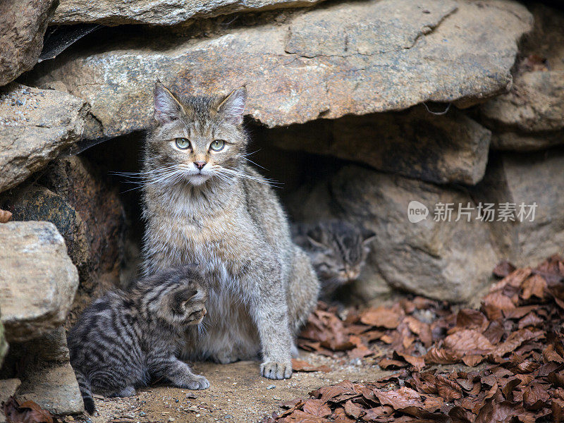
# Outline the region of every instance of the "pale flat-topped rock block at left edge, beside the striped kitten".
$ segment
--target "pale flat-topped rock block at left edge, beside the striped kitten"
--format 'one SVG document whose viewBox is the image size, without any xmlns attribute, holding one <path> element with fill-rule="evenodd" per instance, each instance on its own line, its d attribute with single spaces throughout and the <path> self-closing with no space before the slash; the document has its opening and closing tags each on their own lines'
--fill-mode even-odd
<svg viewBox="0 0 564 423">
<path fill-rule="evenodd" d="M 26 341 L 63 324 L 78 272 L 49 222 L 0 225 L 0 308 L 8 342 Z"/>
</svg>

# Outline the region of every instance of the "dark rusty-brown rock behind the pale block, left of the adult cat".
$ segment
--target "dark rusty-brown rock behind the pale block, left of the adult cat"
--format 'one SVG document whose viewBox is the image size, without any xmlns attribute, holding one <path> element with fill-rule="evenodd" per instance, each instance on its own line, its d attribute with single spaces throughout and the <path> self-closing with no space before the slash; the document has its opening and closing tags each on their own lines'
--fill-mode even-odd
<svg viewBox="0 0 564 423">
<path fill-rule="evenodd" d="M 72 324 L 102 290 L 119 284 L 124 212 L 118 187 L 83 157 L 57 159 L 37 183 L 18 188 L 1 206 L 13 221 L 50 221 L 63 235 L 80 286 Z"/>
</svg>

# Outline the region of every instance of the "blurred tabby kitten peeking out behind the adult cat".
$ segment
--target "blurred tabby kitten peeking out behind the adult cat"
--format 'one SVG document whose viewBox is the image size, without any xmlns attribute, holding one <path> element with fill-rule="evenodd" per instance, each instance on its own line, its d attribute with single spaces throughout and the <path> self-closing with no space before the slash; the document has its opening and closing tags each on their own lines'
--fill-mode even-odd
<svg viewBox="0 0 564 423">
<path fill-rule="evenodd" d="M 335 290 L 356 281 L 366 263 L 374 232 L 339 220 L 293 225 L 294 242 L 312 260 L 321 281 L 321 298 L 328 300 Z"/>
</svg>

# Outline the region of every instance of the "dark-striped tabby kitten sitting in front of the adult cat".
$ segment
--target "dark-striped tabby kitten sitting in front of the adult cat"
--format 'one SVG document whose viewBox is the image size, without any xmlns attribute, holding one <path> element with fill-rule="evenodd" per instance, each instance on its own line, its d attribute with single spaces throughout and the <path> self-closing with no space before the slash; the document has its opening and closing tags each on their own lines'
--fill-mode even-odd
<svg viewBox="0 0 564 423">
<path fill-rule="evenodd" d="M 195 265 L 180 266 L 133 282 L 128 292 L 111 290 L 92 302 L 69 331 L 71 364 L 85 410 L 94 412 L 92 392 L 132 396 L 136 386 L 166 379 L 173 386 L 209 388 L 176 358 L 189 325 L 206 308 L 206 284 Z"/>
</svg>

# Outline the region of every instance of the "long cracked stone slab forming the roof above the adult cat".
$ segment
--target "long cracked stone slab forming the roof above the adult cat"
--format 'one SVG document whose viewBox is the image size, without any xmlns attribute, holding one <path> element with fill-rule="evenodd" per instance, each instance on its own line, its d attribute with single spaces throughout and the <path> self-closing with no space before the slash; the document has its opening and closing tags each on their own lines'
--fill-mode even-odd
<svg viewBox="0 0 564 423">
<path fill-rule="evenodd" d="M 30 78 L 87 100 L 101 125 L 89 137 L 147 128 L 157 78 L 179 94 L 247 82 L 246 114 L 275 127 L 427 100 L 470 106 L 507 89 L 532 25 L 525 6 L 495 0 L 372 0 L 285 16 L 227 29 L 212 21 L 206 36 L 140 28 L 41 63 Z"/>
</svg>

